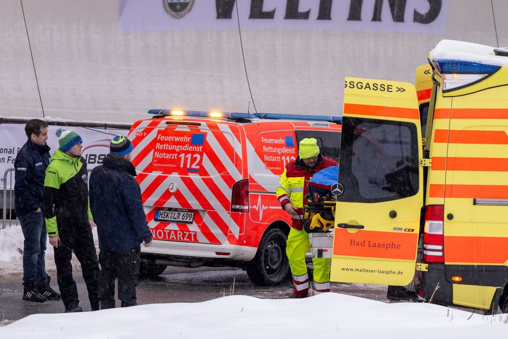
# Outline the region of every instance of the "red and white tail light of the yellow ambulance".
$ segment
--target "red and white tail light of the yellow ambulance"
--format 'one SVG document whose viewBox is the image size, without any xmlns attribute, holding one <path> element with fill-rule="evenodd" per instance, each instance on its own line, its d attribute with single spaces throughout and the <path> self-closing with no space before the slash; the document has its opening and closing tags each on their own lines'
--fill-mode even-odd
<svg viewBox="0 0 508 339">
<path fill-rule="evenodd" d="M 444 264 L 443 215 L 443 205 L 429 205 L 425 209 L 423 260 L 426 263 Z"/>
</svg>

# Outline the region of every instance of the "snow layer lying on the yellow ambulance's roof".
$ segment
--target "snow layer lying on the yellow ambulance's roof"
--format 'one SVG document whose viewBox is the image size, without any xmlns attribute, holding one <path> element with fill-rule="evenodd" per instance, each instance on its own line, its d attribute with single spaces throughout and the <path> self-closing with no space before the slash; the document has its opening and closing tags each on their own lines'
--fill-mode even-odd
<svg viewBox="0 0 508 339">
<path fill-rule="evenodd" d="M 508 67 L 508 57 L 495 55 L 497 47 L 457 40 L 441 40 L 429 52 L 429 59 L 460 60 L 479 64 Z"/>
</svg>

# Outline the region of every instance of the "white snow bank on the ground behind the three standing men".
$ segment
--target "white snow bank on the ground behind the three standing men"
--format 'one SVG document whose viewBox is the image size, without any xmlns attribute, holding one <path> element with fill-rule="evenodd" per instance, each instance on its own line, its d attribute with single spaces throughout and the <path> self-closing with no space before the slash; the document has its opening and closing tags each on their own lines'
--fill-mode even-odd
<svg viewBox="0 0 508 339">
<path fill-rule="evenodd" d="M 92 230 L 96 248 L 99 248 L 97 230 Z M 19 225 L 7 225 L 6 229 L 0 229 L 0 276 L 15 276 L 23 273 L 23 232 Z M 46 240 L 46 272 L 53 276 L 56 281 L 56 266 L 53 255 L 53 247 Z M 81 269 L 81 265 L 75 256 L 72 256 L 74 269 Z"/>
</svg>

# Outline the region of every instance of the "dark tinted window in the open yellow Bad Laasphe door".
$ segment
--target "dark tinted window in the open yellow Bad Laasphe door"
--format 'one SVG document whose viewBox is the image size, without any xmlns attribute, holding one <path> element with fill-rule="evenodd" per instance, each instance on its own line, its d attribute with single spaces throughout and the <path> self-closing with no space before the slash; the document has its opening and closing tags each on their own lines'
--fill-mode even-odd
<svg viewBox="0 0 508 339">
<path fill-rule="evenodd" d="M 351 178 L 343 184 L 352 187 L 344 189 L 340 200 L 376 203 L 415 195 L 419 188 L 417 126 L 348 119 L 354 133 L 344 133 L 340 177 Z"/>
</svg>

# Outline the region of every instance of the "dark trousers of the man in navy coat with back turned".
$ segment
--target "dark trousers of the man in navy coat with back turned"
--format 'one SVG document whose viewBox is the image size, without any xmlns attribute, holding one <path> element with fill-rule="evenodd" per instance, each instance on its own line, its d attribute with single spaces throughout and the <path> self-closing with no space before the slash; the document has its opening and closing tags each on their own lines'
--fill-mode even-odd
<svg viewBox="0 0 508 339">
<path fill-rule="evenodd" d="M 99 263 L 99 300 L 101 309 L 115 307 L 115 279 L 118 278 L 118 299 L 122 307 L 136 306 L 136 286 L 138 285 L 141 247 L 124 251 L 101 249 Z"/>
</svg>

